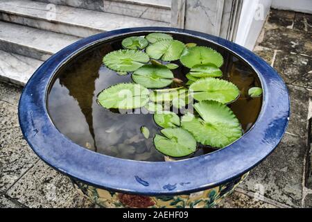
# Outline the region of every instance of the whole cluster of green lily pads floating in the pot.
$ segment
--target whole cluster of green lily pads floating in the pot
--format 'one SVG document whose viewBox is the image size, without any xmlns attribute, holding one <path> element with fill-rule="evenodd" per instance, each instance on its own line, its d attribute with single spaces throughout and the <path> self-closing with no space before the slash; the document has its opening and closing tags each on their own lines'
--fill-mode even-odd
<svg viewBox="0 0 312 222">
<path fill-rule="evenodd" d="M 166 33 L 127 37 L 122 46 L 125 49 L 105 55 L 103 63 L 118 74 L 132 72 L 135 83 L 112 85 L 98 94 L 97 101 L 107 109 L 144 108 L 153 112 L 155 123 L 162 127 L 153 139 L 159 152 L 183 157 L 194 153 L 198 144 L 223 148 L 241 137 L 241 123 L 227 106 L 239 98 L 240 91 L 233 83 L 220 79 L 220 53 L 196 43 L 173 40 Z M 189 68 L 187 83 L 175 78 L 171 71 L 179 65 L 166 62 L 174 60 Z M 261 96 L 262 89 L 252 87 L 248 94 Z M 166 110 L 168 106 L 185 108 L 191 99 L 197 101 L 193 114 Z M 150 137 L 146 126 L 141 126 L 141 133 L 146 139 Z"/>
</svg>

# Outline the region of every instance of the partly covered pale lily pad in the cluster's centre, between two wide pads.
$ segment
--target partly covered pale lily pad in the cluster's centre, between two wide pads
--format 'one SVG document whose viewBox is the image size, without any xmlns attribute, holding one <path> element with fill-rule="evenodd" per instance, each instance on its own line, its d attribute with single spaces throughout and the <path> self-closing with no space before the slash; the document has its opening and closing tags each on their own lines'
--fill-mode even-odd
<svg viewBox="0 0 312 222">
<path fill-rule="evenodd" d="M 182 97 L 187 94 L 187 89 L 184 87 L 177 87 L 171 89 L 158 89 L 150 92 L 150 101 L 162 103 L 172 101 L 173 98 Z"/>
</svg>

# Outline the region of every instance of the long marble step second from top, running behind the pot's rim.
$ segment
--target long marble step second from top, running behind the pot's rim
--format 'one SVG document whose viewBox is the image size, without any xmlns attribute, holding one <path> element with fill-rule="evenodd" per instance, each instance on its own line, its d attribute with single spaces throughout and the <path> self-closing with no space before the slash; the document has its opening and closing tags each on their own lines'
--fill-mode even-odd
<svg viewBox="0 0 312 222">
<path fill-rule="evenodd" d="M 128 17 L 27 0 L 0 1 L 0 19 L 47 31 L 87 37 L 103 31 L 138 26 L 169 26 L 165 22 Z"/>
</svg>

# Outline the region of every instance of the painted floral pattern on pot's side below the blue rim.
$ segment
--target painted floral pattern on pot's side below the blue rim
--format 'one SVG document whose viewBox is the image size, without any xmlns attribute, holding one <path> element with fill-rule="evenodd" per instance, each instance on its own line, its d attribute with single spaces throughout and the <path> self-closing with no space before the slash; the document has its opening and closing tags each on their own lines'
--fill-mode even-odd
<svg viewBox="0 0 312 222">
<path fill-rule="evenodd" d="M 85 185 L 71 180 L 80 194 L 87 196 L 93 203 L 105 208 L 211 208 L 229 195 L 248 176 L 243 176 L 205 191 L 176 196 L 141 196 L 123 194 Z"/>
</svg>

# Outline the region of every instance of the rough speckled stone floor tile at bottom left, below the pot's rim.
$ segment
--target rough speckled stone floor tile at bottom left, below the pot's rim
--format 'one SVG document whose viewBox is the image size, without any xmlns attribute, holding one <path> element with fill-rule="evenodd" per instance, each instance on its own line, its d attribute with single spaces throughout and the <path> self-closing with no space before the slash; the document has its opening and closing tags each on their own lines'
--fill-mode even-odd
<svg viewBox="0 0 312 222">
<path fill-rule="evenodd" d="M 69 178 L 40 161 L 8 192 L 27 207 L 94 207 L 78 194 Z"/>
</svg>

